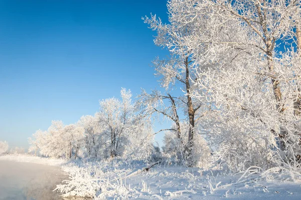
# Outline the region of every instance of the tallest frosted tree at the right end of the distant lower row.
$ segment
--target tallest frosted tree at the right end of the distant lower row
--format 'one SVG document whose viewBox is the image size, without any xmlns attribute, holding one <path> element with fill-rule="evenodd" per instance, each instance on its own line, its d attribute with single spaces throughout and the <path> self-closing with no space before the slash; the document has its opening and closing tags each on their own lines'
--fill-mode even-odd
<svg viewBox="0 0 301 200">
<path fill-rule="evenodd" d="M 143 138 L 142 133 L 145 133 L 144 127 L 147 125 L 135 110 L 130 90 L 122 88 L 120 96 L 121 100 L 110 98 L 100 101 L 100 111 L 97 115 L 104 128 L 103 134 L 110 157 L 133 152 L 134 146 L 140 144 L 137 139 Z M 149 138 L 145 136 L 144 139 L 144 144 L 148 144 Z"/>
</svg>

